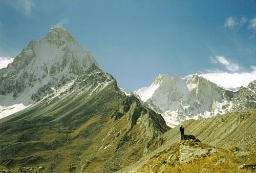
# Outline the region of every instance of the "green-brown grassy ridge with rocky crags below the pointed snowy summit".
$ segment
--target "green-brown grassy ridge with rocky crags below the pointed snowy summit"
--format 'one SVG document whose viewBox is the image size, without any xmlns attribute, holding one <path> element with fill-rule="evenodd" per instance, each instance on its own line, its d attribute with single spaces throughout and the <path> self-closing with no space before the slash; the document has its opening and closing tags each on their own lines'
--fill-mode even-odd
<svg viewBox="0 0 256 173">
<path fill-rule="evenodd" d="M 159 114 L 92 66 L 66 94 L 0 120 L 0 168 L 117 171 L 158 147 L 168 129 Z"/>
</svg>

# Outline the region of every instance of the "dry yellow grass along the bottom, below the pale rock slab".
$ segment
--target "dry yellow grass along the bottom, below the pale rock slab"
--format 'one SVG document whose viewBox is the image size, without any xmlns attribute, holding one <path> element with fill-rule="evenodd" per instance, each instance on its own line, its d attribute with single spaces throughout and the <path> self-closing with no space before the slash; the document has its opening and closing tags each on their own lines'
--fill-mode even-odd
<svg viewBox="0 0 256 173">
<path fill-rule="evenodd" d="M 170 154 L 170 150 L 166 150 L 167 153 Z M 223 151 L 187 164 L 180 165 L 176 162 L 173 166 L 164 160 L 166 160 L 164 155 L 155 156 L 136 172 L 251 172 L 252 170 L 239 169 L 238 167 L 242 164 L 255 164 L 256 154 L 240 158 L 234 156 L 230 151 Z"/>
</svg>

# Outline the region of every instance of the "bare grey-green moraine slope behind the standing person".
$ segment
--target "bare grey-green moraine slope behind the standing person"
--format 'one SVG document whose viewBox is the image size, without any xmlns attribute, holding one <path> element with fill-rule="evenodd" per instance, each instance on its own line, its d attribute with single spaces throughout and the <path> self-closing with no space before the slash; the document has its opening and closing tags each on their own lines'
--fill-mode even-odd
<svg viewBox="0 0 256 173">
<path fill-rule="evenodd" d="M 221 148 L 237 146 L 246 150 L 256 149 L 256 110 L 227 113 L 203 120 L 187 120 L 182 123 L 185 134 L 195 135 L 200 141 Z M 166 137 L 178 141 L 176 127 Z"/>
</svg>

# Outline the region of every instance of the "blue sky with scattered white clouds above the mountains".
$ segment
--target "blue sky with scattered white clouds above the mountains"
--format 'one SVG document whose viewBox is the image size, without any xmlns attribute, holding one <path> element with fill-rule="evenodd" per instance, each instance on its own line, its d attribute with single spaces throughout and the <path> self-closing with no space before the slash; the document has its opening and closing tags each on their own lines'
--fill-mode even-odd
<svg viewBox="0 0 256 173">
<path fill-rule="evenodd" d="M 0 0 L 0 68 L 62 24 L 127 91 L 158 74 L 239 87 L 256 79 L 255 15 L 255 0 Z"/>
</svg>

